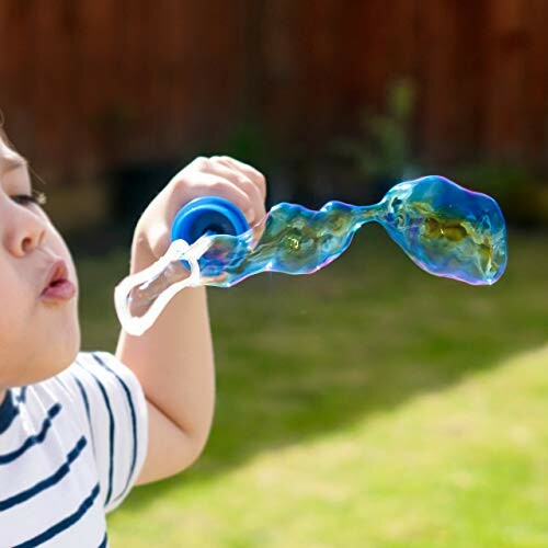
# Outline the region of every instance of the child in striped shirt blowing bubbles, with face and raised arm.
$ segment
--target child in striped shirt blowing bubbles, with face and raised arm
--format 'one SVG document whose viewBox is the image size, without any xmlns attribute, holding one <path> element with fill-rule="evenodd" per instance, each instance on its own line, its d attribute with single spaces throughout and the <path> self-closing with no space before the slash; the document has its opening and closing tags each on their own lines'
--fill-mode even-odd
<svg viewBox="0 0 548 548">
<path fill-rule="evenodd" d="M 195 159 L 138 220 L 130 273 L 167 251 L 186 202 L 221 196 L 252 224 L 265 215 L 265 193 L 250 165 Z M 180 292 L 141 336 L 122 331 L 115 354 L 80 352 L 77 272 L 41 197 L 2 133 L 0 547 L 104 547 L 105 513 L 133 486 L 187 468 L 207 441 L 215 376 L 206 288 Z"/>
</svg>

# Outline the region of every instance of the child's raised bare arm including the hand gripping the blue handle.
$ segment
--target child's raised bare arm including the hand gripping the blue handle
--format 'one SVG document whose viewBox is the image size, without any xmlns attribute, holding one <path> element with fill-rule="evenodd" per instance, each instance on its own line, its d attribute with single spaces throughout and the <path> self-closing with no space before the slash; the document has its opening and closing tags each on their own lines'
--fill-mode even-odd
<svg viewBox="0 0 548 548">
<path fill-rule="evenodd" d="M 190 199 L 231 201 L 252 224 L 265 215 L 266 183 L 229 157 L 197 158 L 180 171 L 141 215 L 132 247 L 132 274 L 168 250 L 171 222 Z M 185 288 L 140 336 L 122 331 L 116 357 L 137 376 L 148 401 L 149 442 L 137 483 L 187 468 L 202 453 L 213 422 L 214 351 L 205 287 Z"/>
</svg>

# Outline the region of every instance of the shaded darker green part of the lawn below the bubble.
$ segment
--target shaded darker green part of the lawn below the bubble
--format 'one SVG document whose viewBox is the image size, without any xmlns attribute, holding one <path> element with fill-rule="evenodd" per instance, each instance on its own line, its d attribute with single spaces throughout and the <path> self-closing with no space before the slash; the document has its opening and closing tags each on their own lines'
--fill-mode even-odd
<svg viewBox="0 0 548 548">
<path fill-rule="evenodd" d="M 208 444 L 193 467 L 134 489 L 124 507 L 146 507 L 258 453 L 352 429 L 546 343 L 547 249 L 546 235 L 511 230 L 506 273 L 477 287 L 421 271 L 372 226 L 312 276 L 265 273 L 209 288 L 217 397 Z M 129 249 L 76 260 L 82 350 L 114 352 L 112 290 Z"/>
</svg>

